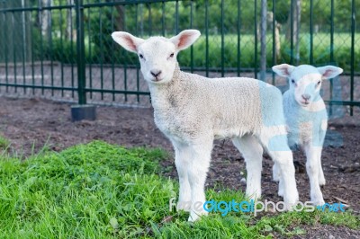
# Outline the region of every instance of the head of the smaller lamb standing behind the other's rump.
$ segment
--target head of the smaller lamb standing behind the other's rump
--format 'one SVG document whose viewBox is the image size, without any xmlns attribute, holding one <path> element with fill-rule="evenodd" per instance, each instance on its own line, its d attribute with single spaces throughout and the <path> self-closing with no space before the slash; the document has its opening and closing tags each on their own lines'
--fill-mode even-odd
<svg viewBox="0 0 360 239">
<path fill-rule="evenodd" d="M 302 107 L 320 99 L 320 87 L 323 79 L 333 78 L 343 72 L 337 66 L 314 67 L 310 65 L 291 66 L 282 64 L 273 66 L 273 71 L 289 79 L 290 91 L 295 101 Z"/>
</svg>

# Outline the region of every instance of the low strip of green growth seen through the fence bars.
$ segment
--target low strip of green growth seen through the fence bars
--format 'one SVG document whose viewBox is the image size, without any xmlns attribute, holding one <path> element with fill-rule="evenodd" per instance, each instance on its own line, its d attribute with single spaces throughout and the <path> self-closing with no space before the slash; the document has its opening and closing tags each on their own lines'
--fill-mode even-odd
<svg viewBox="0 0 360 239">
<path fill-rule="evenodd" d="M 94 40 L 96 39 L 96 40 Z M 93 42 L 94 40 L 94 42 Z M 273 66 L 272 55 L 272 37 L 268 36 L 267 43 L 267 66 Z M 240 67 L 255 67 L 255 45 L 252 35 L 240 36 Z M 334 61 L 330 60 L 329 36 L 320 33 L 314 36 L 313 40 L 313 62 L 314 65 L 335 64 L 343 67 L 346 71 L 350 70 L 351 46 L 348 43 L 348 34 L 337 34 L 334 44 Z M 238 66 L 238 37 L 236 35 L 227 35 L 224 41 L 224 66 Z M 310 39 L 308 35 L 302 35 L 300 42 L 299 64 L 310 64 Z M 206 59 L 206 40 L 202 36 L 200 40 L 193 45 L 193 66 L 221 67 L 221 44 L 220 35 L 209 36 L 209 58 Z M 260 44 L 257 50 L 257 66 L 260 62 Z M 40 44 L 35 46 L 35 56 L 40 59 Z M 356 45 L 356 56 L 360 54 L 360 47 Z M 76 42 L 68 40 L 52 39 L 51 42 L 43 42 L 42 56 L 46 60 L 60 61 L 63 63 L 76 62 Z M 277 63 L 290 63 L 291 49 L 288 40 L 281 40 L 281 54 L 277 58 Z M 138 57 L 136 54 L 127 52 L 112 41 L 110 35 L 95 35 L 90 39 L 85 39 L 85 61 L 93 64 L 120 64 L 137 65 Z M 191 66 L 191 49 L 186 49 L 178 56 L 181 66 Z M 355 69 L 360 71 L 360 59 L 355 58 Z M 296 62 L 296 61 L 294 61 Z"/>
</svg>

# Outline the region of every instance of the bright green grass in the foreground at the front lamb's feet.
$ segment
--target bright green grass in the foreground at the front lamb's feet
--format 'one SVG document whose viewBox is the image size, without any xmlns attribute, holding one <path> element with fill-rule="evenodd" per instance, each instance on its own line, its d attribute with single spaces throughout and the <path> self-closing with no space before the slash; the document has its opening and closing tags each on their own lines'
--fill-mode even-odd
<svg viewBox="0 0 360 239">
<path fill-rule="evenodd" d="M 161 176 L 160 149 L 102 141 L 21 161 L 0 160 L 0 238 L 259 238 L 302 235 L 302 225 L 360 229 L 350 213 L 211 213 L 194 224 L 169 212 L 176 181 Z M 237 201 L 242 192 L 207 190 L 208 199 Z M 165 218 L 171 216 L 169 222 Z"/>
</svg>

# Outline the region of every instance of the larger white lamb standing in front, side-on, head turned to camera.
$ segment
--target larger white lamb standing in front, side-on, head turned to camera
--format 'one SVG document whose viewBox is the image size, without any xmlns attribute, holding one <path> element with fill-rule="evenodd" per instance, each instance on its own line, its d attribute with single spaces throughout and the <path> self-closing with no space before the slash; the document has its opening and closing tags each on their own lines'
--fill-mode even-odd
<svg viewBox="0 0 360 239">
<path fill-rule="evenodd" d="M 148 82 L 157 127 L 175 148 L 180 190 L 178 209 L 190 210 L 189 221 L 206 215 L 204 184 L 213 140 L 231 138 L 247 163 L 247 190 L 261 196 L 263 147 L 279 165 L 284 202 L 296 203 L 298 191 L 293 153 L 287 145 L 282 94 L 274 86 L 250 78 L 209 79 L 180 70 L 176 56 L 200 37 L 186 30 L 173 38 L 142 40 L 117 31 L 112 39 L 137 53 Z M 190 208 L 187 205 L 191 204 Z M 200 207 L 199 207 L 200 205 Z"/>
</svg>

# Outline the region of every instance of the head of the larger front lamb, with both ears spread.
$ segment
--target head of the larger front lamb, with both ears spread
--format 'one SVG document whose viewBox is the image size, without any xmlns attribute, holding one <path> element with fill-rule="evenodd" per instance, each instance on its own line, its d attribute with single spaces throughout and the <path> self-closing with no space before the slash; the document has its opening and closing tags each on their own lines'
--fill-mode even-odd
<svg viewBox="0 0 360 239">
<path fill-rule="evenodd" d="M 128 32 L 115 31 L 112 39 L 124 49 L 138 54 L 142 75 L 150 84 L 165 84 L 173 78 L 177 53 L 190 47 L 200 31 L 181 31 L 173 38 L 151 37 L 143 40 Z"/>
</svg>

